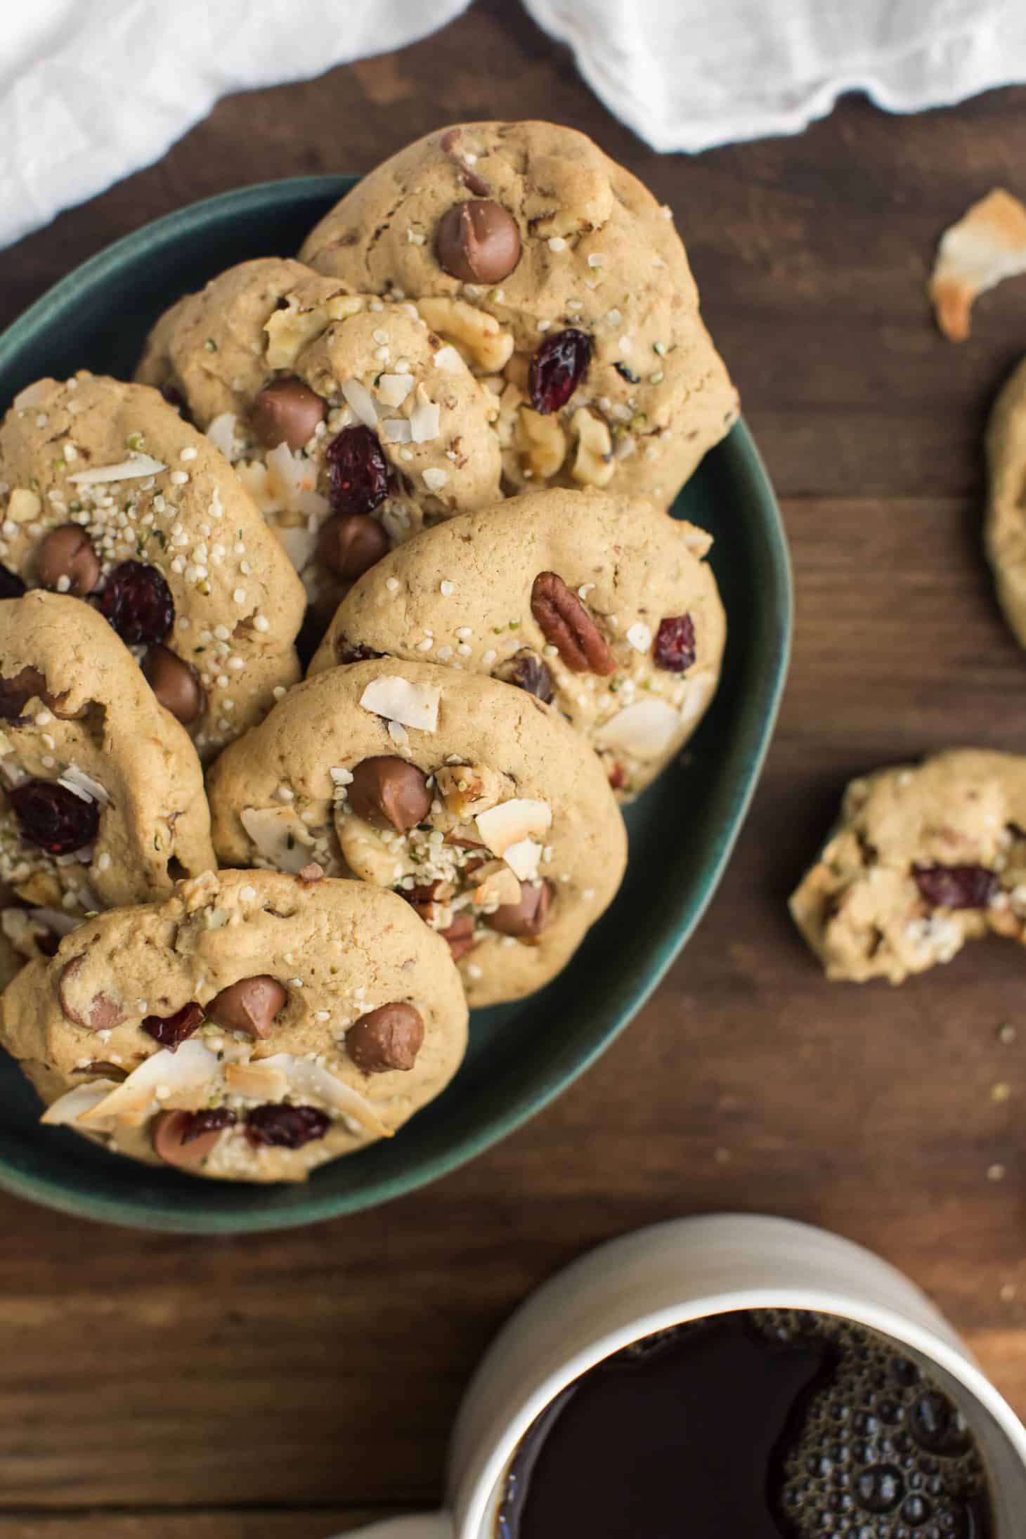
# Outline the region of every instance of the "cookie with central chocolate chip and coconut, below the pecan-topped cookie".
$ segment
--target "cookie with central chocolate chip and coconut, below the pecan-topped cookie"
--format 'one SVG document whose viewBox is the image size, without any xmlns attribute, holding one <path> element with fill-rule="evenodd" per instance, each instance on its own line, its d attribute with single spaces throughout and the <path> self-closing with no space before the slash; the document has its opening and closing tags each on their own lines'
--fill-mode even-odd
<svg viewBox="0 0 1026 1539">
<path fill-rule="evenodd" d="M 315 860 L 394 890 L 446 937 L 472 1007 L 548 983 L 626 863 L 588 743 L 523 689 L 435 663 L 308 679 L 208 791 L 226 865 Z"/>
</svg>

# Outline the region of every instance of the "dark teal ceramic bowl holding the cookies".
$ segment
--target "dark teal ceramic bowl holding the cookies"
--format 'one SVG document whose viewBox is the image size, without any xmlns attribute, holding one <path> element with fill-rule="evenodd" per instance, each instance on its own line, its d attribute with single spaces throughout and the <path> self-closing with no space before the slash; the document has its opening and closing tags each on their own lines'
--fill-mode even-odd
<svg viewBox="0 0 1026 1539">
<path fill-rule="evenodd" d="M 298 249 L 352 185 L 301 177 L 242 188 L 135 231 L 57 283 L 0 337 L 0 408 L 43 374 L 131 379 L 143 339 L 180 294 L 246 257 Z M 694 474 L 674 512 L 715 536 L 728 611 L 723 683 L 689 745 L 628 810 L 623 888 L 540 994 L 477 1011 L 457 1077 L 391 1143 L 335 1160 L 301 1187 L 195 1180 L 42 1128 L 38 1102 L 0 1054 L 0 1185 L 78 1217 L 228 1234 L 311 1224 L 386 1202 L 454 1170 L 538 1111 L 626 1027 L 697 925 L 723 873 L 769 743 L 791 636 L 788 549 L 743 423 Z"/>
</svg>

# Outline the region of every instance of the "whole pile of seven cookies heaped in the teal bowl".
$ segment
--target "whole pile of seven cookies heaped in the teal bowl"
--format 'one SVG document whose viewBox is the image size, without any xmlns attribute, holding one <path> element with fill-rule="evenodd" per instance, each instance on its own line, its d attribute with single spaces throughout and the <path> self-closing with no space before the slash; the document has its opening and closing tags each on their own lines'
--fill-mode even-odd
<svg viewBox="0 0 1026 1539">
<path fill-rule="evenodd" d="M 554 977 L 717 686 L 666 506 L 735 417 L 669 211 L 545 123 L 412 145 L 135 383 L 18 396 L 0 1039 L 43 1120 L 301 1179 Z"/>
</svg>

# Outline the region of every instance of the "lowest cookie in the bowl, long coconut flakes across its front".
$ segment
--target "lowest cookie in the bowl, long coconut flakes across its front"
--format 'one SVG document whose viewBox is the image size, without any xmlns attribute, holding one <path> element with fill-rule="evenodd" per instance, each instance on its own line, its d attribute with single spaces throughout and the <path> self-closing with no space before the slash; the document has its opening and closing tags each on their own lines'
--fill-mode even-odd
<svg viewBox="0 0 1026 1539">
<path fill-rule="evenodd" d="M 88 920 L 0 1000 L 43 1122 L 222 1180 L 303 1180 L 391 1137 L 466 1047 L 448 948 L 317 871 L 206 873 Z"/>
</svg>

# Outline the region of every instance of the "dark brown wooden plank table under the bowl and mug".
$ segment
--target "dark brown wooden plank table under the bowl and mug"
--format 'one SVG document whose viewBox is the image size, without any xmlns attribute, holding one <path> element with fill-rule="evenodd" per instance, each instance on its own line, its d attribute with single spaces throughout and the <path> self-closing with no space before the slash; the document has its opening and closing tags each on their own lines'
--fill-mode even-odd
<svg viewBox="0 0 1026 1539">
<path fill-rule="evenodd" d="M 940 229 L 995 183 L 1026 191 L 1024 108 L 1026 89 L 914 119 L 846 100 L 800 139 L 660 159 L 486 0 L 403 54 L 223 102 L 0 254 L 6 323 L 194 199 L 365 171 L 445 122 L 558 117 L 677 209 L 798 594 L 780 728 L 706 920 L 529 1127 L 428 1191 L 281 1237 L 129 1234 L 0 1199 L 5 1539 L 321 1539 L 434 1502 L 461 1385 L 517 1300 L 597 1240 L 694 1211 L 792 1214 L 880 1250 L 1026 1413 L 1021 953 L 828 985 L 784 908 L 854 773 L 1026 749 L 1026 659 L 978 540 L 980 429 L 1026 348 L 1024 285 L 989 295 L 961 348 L 923 294 Z"/>
</svg>

